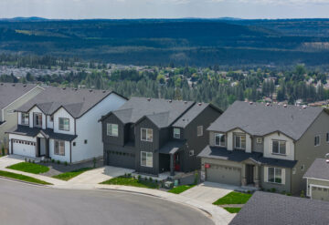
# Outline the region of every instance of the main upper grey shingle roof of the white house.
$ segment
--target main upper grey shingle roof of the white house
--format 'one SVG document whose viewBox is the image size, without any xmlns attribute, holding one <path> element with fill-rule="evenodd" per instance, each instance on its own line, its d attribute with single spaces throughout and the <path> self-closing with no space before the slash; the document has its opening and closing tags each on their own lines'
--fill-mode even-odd
<svg viewBox="0 0 329 225">
<path fill-rule="evenodd" d="M 27 112 L 32 107 L 37 106 L 45 114 L 52 115 L 60 107 L 64 107 L 73 118 L 80 118 L 90 108 L 96 106 L 102 99 L 112 93 L 118 95 L 109 90 L 46 87 L 37 97 L 17 108 L 17 111 Z"/>
</svg>

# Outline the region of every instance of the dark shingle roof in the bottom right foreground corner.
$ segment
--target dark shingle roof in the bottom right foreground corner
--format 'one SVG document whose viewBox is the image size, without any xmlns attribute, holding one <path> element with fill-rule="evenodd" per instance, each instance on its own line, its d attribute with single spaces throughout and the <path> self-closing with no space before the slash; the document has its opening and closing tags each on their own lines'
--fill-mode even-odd
<svg viewBox="0 0 329 225">
<path fill-rule="evenodd" d="M 255 192 L 230 225 L 327 225 L 329 202 Z"/>
</svg>

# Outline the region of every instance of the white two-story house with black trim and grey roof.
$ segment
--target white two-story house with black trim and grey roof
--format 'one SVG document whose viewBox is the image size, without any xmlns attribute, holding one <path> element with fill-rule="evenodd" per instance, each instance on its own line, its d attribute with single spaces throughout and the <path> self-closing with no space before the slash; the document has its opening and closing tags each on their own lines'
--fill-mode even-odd
<svg viewBox="0 0 329 225">
<path fill-rule="evenodd" d="M 102 157 L 98 119 L 125 102 L 112 91 L 47 87 L 16 109 L 18 125 L 8 131 L 10 153 L 68 163 Z"/>
</svg>

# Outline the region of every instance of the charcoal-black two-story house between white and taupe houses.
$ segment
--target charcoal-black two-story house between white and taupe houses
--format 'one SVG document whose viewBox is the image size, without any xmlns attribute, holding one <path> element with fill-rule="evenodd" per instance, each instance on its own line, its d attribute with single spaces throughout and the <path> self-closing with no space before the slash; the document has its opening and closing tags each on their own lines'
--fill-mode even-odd
<svg viewBox="0 0 329 225">
<path fill-rule="evenodd" d="M 132 97 L 101 118 L 104 162 L 151 175 L 199 169 L 206 128 L 220 114 L 207 103 Z"/>
</svg>

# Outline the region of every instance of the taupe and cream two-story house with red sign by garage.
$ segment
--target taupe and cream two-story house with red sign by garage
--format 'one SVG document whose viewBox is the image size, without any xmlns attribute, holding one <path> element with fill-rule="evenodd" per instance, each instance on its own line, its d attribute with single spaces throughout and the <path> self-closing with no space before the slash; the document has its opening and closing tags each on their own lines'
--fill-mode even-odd
<svg viewBox="0 0 329 225">
<path fill-rule="evenodd" d="M 202 178 L 237 186 L 297 194 L 305 171 L 329 148 L 322 107 L 236 101 L 207 130 Z"/>
</svg>

